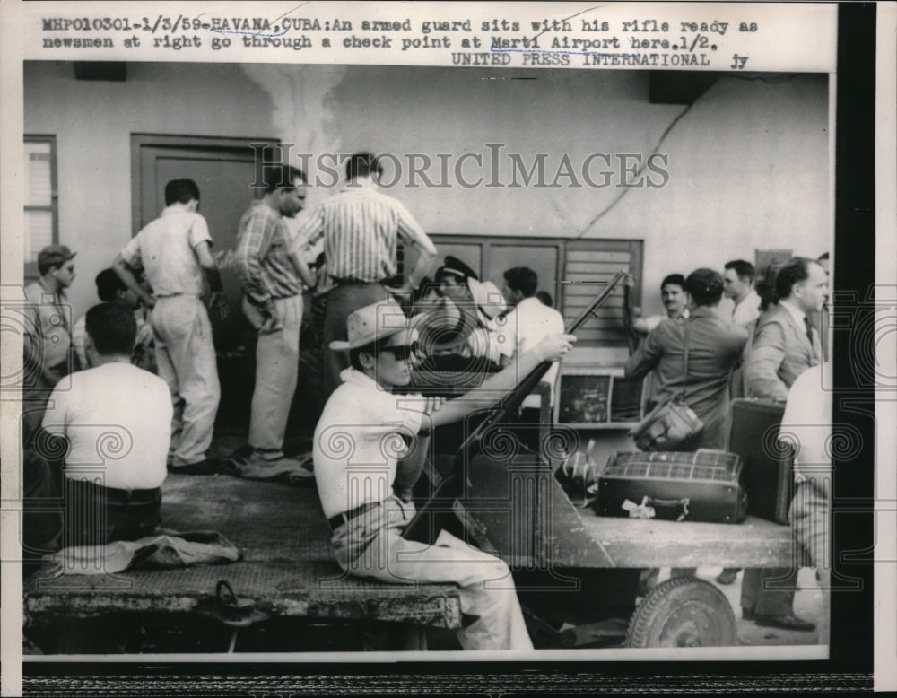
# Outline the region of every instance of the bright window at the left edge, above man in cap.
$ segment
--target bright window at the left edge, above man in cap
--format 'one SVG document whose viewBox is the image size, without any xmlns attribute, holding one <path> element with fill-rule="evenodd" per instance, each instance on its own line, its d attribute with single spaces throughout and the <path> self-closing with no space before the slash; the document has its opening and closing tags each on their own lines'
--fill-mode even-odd
<svg viewBox="0 0 897 698">
<path fill-rule="evenodd" d="M 57 216 L 56 136 L 25 136 L 26 277 L 38 275 L 39 251 L 59 239 Z"/>
</svg>

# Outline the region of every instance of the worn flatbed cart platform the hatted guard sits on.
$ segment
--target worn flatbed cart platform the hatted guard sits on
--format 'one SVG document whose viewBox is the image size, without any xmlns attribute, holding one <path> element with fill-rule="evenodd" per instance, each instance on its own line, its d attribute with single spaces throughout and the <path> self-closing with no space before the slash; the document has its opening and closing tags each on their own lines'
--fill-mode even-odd
<svg viewBox="0 0 897 698">
<path fill-rule="evenodd" d="M 227 580 L 239 598 L 272 615 L 460 627 L 452 584 L 404 586 L 344 576 L 313 485 L 169 476 L 162 486 L 162 526 L 219 531 L 243 559 L 115 575 L 48 578 L 39 570 L 25 580 L 26 624 L 120 611 L 191 612 L 215 598 L 218 580 Z"/>
</svg>

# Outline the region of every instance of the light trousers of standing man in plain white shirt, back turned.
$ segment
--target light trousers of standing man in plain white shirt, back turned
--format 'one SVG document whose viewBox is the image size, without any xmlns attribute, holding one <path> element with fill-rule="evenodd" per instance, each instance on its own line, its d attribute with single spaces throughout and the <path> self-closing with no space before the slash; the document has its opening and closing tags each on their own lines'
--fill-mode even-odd
<svg viewBox="0 0 897 698">
<path fill-rule="evenodd" d="M 159 376 L 174 403 L 171 464 L 196 463 L 212 444 L 221 399 L 212 323 L 203 301 L 187 295 L 157 299 L 150 321 Z"/>
</svg>

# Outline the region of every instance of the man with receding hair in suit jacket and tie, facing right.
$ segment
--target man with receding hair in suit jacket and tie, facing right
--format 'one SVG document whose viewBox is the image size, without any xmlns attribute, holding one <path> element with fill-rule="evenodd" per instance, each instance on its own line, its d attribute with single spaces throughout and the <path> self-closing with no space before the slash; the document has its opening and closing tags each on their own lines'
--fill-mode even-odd
<svg viewBox="0 0 897 698">
<path fill-rule="evenodd" d="M 779 302 L 757 320 L 745 362 L 748 397 L 785 402 L 797 376 L 819 363 L 819 333 L 808 315 L 823 307 L 828 284 L 823 267 L 806 257 L 795 257 L 779 270 Z M 766 588 L 767 582 L 771 588 Z M 786 630 L 813 630 L 812 623 L 794 615 L 796 582 L 796 569 L 745 570 L 741 588 L 745 619 Z"/>
</svg>

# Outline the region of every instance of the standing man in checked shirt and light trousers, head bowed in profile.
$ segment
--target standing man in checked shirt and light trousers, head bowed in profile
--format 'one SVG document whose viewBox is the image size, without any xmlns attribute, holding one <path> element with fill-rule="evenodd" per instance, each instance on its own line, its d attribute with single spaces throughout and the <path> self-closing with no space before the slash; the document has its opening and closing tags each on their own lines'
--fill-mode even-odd
<svg viewBox="0 0 897 698">
<path fill-rule="evenodd" d="M 265 196 L 252 202 L 240 219 L 235 256 L 245 314 L 258 332 L 251 450 L 245 460 L 283 465 L 283 436 L 299 372 L 302 284 L 313 286 L 314 280 L 283 223 L 284 216 L 293 218 L 302 210 L 305 175 L 294 167 L 269 164 L 262 180 Z"/>
</svg>

